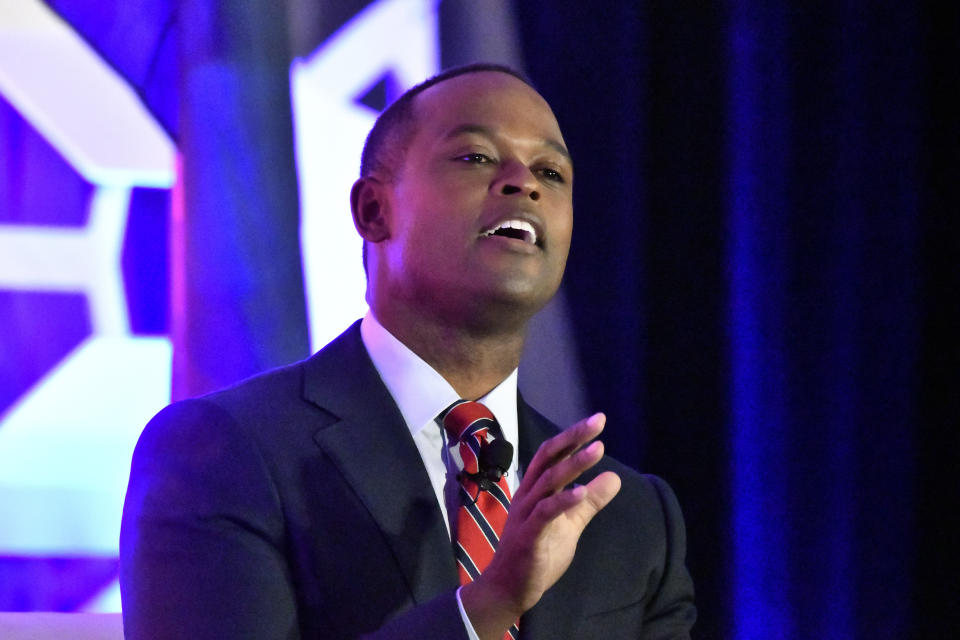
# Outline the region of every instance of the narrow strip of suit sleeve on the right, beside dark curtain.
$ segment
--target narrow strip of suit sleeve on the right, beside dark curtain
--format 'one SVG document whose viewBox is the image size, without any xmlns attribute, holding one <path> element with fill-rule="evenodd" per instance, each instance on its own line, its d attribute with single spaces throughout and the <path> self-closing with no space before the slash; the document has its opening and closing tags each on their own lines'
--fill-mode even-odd
<svg viewBox="0 0 960 640">
<path fill-rule="evenodd" d="M 666 532 L 666 552 L 660 583 L 644 616 L 642 640 L 687 640 L 697 617 L 693 580 L 686 567 L 687 539 L 680 504 L 670 486 L 646 476 L 660 498 Z"/>
</svg>

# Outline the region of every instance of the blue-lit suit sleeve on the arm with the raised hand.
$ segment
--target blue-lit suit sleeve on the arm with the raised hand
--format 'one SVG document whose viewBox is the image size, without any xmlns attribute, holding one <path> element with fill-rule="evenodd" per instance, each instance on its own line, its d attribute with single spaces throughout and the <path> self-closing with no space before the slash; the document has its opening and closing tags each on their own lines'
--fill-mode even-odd
<svg viewBox="0 0 960 640">
<path fill-rule="evenodd" d="M 301 637 L 281 495 L 256 442 L 218 405 L 177 403 L 144 429 L 120 586 L 128 640 Z M 467 638 L 453 590 L 362 637 Z"/>
</svg>

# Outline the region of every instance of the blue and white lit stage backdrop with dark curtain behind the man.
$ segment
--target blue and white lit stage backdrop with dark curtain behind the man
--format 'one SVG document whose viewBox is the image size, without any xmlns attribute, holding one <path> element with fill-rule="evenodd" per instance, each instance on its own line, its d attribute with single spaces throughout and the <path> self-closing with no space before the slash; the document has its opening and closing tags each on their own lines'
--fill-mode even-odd
<svg viewBox="0 0 960 640">
<path fill-rule="evenodd" d="M 172 397 L 363 313 L 383 105 L 524 68 L 577 166 L 528 399 L 610 416 L 684 507 L 698 637 L 949 637 L 957 10 L 897 3 L 0 1 L 0 610 L 116 610 Z M 956 87 L 955 87 L 956 88 Z"/>
</svg>

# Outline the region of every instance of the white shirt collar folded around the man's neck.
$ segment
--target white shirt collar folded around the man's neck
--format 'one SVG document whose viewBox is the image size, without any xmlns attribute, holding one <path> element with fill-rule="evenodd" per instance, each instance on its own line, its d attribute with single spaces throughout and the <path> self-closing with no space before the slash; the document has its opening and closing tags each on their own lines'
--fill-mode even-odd
<svg viewBox="0 0 960 640">
<path fill-rule="evenodd" d="M 360 323 L 360 337 L 411 434 L 416 435 L 460 399 L 450 383 L 387 331 L 372 311 L 368 311 Z M 479 402 L 497 417 L 507 441 L 516 445 L 517 370 Z"/>
</svg>

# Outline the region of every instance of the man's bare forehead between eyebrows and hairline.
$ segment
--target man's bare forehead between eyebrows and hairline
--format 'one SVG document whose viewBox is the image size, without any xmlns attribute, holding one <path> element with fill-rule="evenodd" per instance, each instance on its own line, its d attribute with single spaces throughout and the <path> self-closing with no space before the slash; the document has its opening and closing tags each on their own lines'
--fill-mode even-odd
<svg viewBox="0 0 960 640">
<path fill-rule="evenodd" d="M 420 138 L 474 128 L 563 145 L 547 101 L 519 78 L 498 71 L 467 73 L 436 84 L 416 97 L 414 111 Z"/>
</svg>

